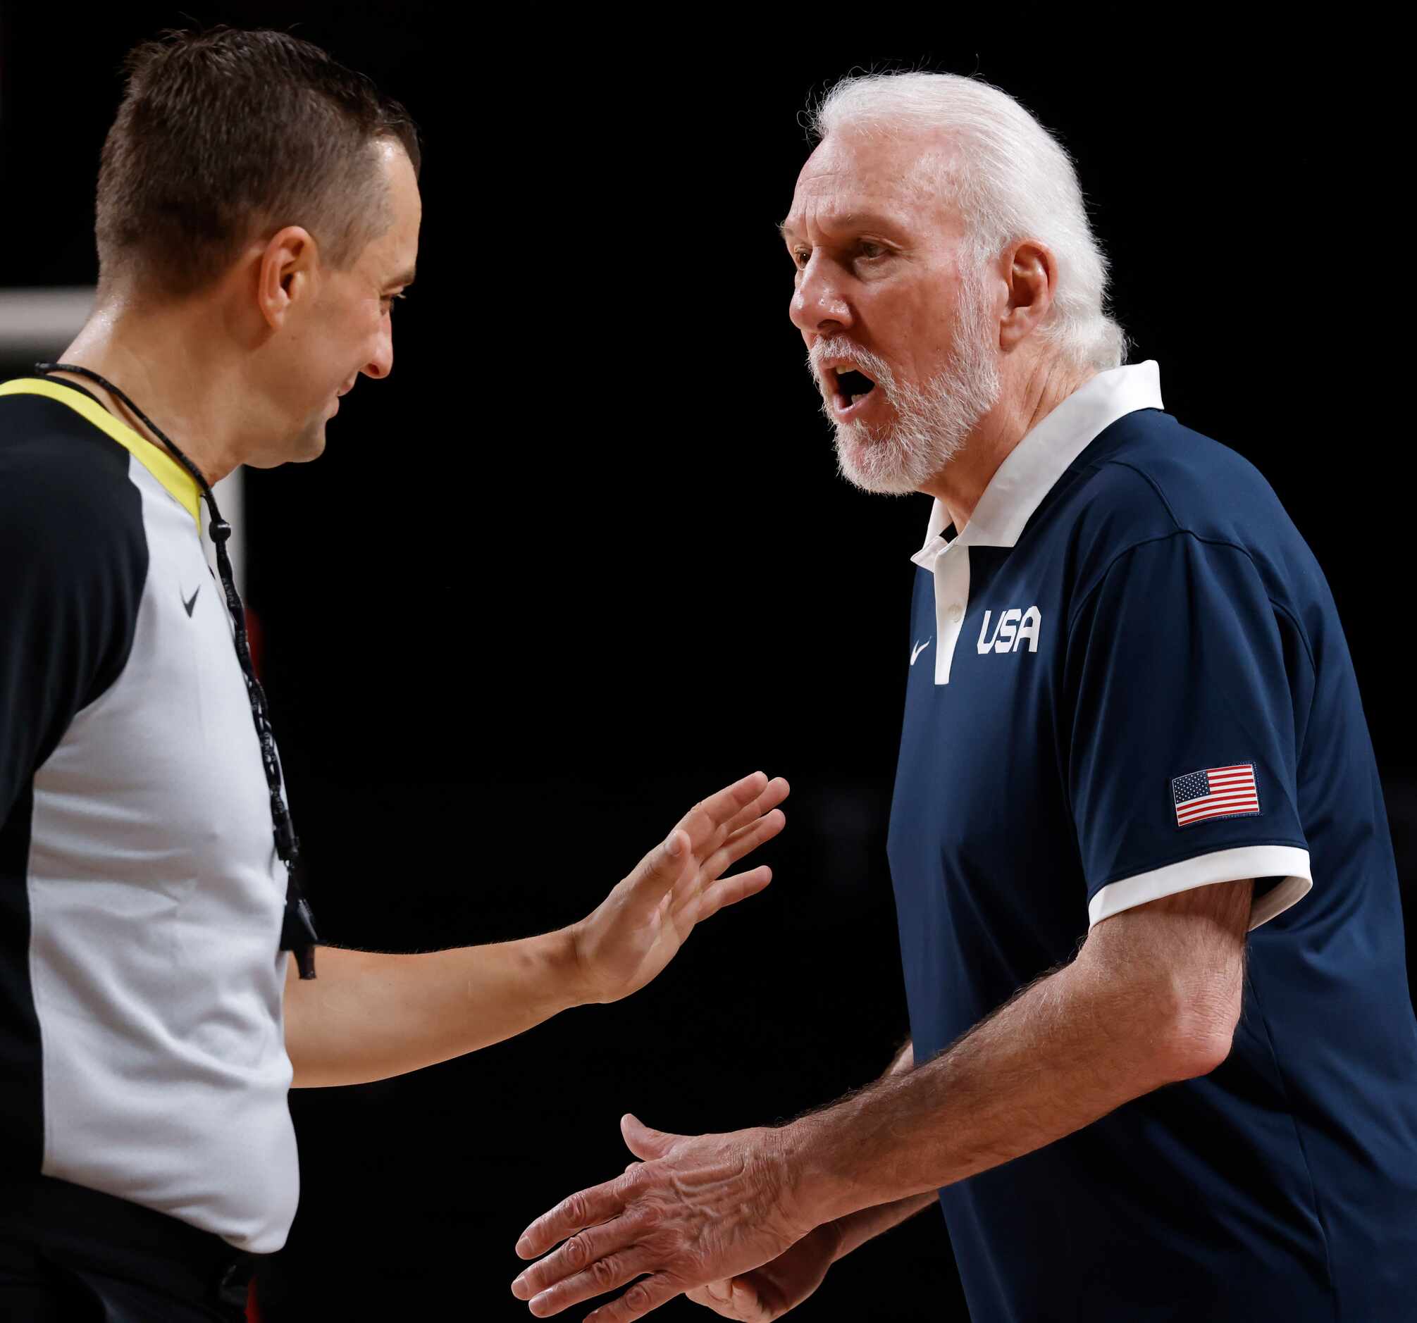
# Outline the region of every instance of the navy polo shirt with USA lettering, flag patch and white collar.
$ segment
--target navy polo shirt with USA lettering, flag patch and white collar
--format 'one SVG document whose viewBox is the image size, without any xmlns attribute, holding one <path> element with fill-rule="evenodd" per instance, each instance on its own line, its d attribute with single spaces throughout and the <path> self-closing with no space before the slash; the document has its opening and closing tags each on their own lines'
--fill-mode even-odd
<svg viewBox="0 0 1417 1323">
<path fill-rule="evenodd" d="M 941 1191 L 973 1323 L 1417 1316 L 1417 1023 L 1338 612 L 1260 473 L 1104 373 L 915 555 L 915 1060 L 1093 924 L 1255 878 L 1230 1057 Z"/>
</svg>

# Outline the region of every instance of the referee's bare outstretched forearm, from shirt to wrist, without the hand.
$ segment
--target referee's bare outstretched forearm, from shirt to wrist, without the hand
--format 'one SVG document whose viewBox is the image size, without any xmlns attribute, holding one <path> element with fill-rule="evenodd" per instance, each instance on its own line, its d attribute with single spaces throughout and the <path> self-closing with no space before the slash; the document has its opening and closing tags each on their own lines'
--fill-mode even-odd
<svg viewBox="0 0 1417 1323">
<path fill-rule="evenodd" d="M 476 1051 L 585 1000 L 570 932 L 427 955 L 322 946 L 286 977 L 295 1086 L 367 1084 Z M 293 969 L 293 962 L 292 962 Z"/>
</svg>

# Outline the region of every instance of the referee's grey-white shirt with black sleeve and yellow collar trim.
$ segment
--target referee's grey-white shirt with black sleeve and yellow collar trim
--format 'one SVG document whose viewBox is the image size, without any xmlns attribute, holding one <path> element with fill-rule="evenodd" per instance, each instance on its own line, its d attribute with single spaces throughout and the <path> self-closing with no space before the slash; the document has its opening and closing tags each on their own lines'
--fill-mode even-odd
<svg viewBox="0 0 1417 1323">
<path fill-rule="evenodd" d="M 0 1162 L 281 1248 L 285 867 L 196 484 L 0 385 Z"/>
</svg>

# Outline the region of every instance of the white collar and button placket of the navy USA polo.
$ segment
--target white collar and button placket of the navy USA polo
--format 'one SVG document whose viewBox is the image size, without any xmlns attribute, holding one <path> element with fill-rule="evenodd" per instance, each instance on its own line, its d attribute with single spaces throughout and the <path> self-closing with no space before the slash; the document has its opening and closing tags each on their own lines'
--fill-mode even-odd
<svg viewBox="0 0 1417 1323">
<path fill-rule="evenodd" d="M 1058 404 L 1005 456 L 983 489 L 965 531 L 947 540 L 949 521 L 937 500 L 925 545 L 911 560 L 935 577 L 935 684 L 949 683 L 959 622 L 969 602 L 969 547 L 1013 547 L 1023 526 L 1054 483 L 1097 436 L 1136 409 L 1159 409 L 1161 368 L 1155 360 L 1098 373 Z M 915 640 L 917 647 L 921 640 Z"/>
</svg>

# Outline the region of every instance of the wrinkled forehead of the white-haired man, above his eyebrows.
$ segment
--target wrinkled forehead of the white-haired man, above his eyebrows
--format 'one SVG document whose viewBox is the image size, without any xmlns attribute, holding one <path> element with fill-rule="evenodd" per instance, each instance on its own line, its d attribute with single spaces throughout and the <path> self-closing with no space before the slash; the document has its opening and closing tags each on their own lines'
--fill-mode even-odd
<svg viewBox="0 0 1417 1323">
<path fill-rule="evenodd" d="M 939 178 L 952 154 L 938 133 L 833 133 L 802 167 L 784 231 L 849 228 L 862 217 L 905 231 L 937 228 L 948 214 Z"/>
</svg>

